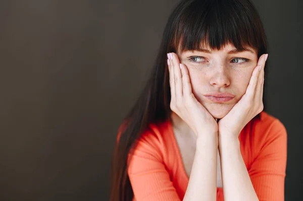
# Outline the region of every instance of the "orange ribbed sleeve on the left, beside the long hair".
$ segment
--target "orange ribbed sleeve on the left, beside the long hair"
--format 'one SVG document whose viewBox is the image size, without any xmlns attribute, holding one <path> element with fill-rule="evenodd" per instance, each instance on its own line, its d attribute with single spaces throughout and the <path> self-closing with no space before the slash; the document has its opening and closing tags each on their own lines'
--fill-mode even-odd
<svg viewBox="0 0 303 201">
<path fill-rule="evenodd" d="M 179 201 L 163 163 L 161 144 L 153 133 L 145 133 L 129 154 L 128 176 L 136 201 Z"/>
</svg>

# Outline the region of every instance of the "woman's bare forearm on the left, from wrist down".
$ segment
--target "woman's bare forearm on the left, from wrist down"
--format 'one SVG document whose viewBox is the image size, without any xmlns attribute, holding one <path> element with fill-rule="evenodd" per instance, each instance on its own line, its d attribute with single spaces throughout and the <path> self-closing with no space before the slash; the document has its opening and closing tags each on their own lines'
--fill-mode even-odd
<svg viewBox="0 0 303 201">
<path fill-rule="evenodd" d="M 217 198 L 218 135 L 214 133 L 198 136 L 190 178 L 183 200 L 212 201 Z"/>
</svg>

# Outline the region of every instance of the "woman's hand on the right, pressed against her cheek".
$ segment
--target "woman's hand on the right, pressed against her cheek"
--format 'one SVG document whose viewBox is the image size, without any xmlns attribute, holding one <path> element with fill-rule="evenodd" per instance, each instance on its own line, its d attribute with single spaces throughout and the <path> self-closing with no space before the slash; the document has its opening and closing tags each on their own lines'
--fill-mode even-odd
<svg viewBox="0 0 303 201">
<path fill-rule="evenodd" d="M 258 65 L 252 72 L 245 94 L 233 106 L 226 116 L 219 120 L 219 135 L 238 137 L 243 127 L 257 114 L 263 111 L 264 66 L 268 54 L 260 56 Z M 259 66 L 261 70 L 259 71 Z"/>
</svg>

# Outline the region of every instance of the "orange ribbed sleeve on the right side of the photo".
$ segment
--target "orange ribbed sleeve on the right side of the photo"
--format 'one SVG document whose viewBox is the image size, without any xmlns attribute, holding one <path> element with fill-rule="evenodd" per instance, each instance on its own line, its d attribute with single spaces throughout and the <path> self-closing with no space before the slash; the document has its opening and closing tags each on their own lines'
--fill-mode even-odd
<svg viewBox="0 0 303 201">
<path fill-rule="evenodd" d="M 286 176 L 287 132 L 275 119 L 265 133 L 260 153 L 248 171 L 260 201 L 283 201 Z"/>
</svg>

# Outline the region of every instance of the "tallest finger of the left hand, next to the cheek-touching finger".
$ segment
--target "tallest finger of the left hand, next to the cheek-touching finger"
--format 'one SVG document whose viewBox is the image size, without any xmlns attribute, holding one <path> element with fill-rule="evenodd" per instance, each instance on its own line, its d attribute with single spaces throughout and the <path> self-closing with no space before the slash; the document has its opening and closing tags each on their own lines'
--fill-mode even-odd
<svg viewBox="0 0 303 201">
<path fill-rule="evenodd" d="M 181 100 L 183 97 L 183 89 L 180 62 L 176 53 L 171 53 L 171 55 L 173 57 L 172 62 L 174 65 L 176 100 Z"/>
</svg>

